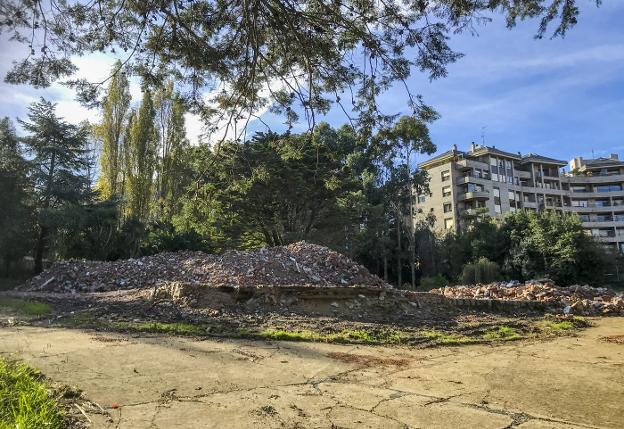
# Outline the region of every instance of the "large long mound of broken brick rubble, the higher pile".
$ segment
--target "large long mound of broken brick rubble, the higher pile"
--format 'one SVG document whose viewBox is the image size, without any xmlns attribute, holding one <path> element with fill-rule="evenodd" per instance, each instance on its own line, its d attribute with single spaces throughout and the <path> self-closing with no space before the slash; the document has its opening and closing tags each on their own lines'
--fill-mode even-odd
<svg viewBox="0 0 624 429">
<path fill-rule="evenodd" d="M 298 242 L 253 251 L 168 252 L 115 262 L 62 261 L 22 290 L 102 292 L 167 282 L 208 286 L 366 286 L 390 288 L 351 259 L 326 247 Z"/>
</svg>

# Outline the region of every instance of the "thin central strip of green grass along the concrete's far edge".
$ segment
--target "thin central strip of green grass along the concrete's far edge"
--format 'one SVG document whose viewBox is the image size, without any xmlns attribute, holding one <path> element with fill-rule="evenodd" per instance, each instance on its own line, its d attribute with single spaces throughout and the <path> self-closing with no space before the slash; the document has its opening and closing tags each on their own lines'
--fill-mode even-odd
<svg viewBox="0 0 624 429">
<path fill-rule="evenodd" d="M 399 344 L 405 339 L 400 332 L 396 331 L 369 332 L 361 329 L 343 329 L 342 331 L 332 333 L 318 333 L 308 330 L 265 329 L 256 335 L 267 340 L 358 344 Z"/>
</svg>

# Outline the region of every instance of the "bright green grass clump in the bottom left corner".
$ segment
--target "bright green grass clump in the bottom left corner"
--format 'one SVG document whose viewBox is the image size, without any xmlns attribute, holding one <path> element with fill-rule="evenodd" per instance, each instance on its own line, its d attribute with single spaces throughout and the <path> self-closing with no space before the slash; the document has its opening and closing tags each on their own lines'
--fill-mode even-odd
<svg viewBox="0 0 624 429">
<path fill-rule="evenodd" d="M 42 375 L 0 358 L 0 429 L 64 427 L 63 412 Z"/>
</svg>

